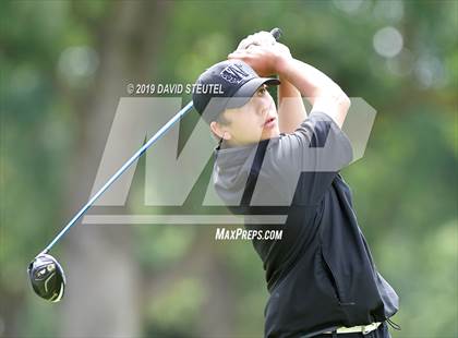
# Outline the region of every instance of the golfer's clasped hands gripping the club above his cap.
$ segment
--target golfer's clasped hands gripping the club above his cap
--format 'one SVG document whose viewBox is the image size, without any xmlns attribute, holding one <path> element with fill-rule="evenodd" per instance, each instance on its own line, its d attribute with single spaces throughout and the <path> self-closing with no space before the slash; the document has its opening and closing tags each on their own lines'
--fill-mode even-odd
<svg viewBox="0 0 458 338">
<path fill-rule="evenodd" d="M 268 32 L 248 36 L 228 56 L 228 59 L 246 62 L 260 76 L 278 74 L 280 65 L 291 58 L 289 48 L 277 43 Z"/>
</svg>

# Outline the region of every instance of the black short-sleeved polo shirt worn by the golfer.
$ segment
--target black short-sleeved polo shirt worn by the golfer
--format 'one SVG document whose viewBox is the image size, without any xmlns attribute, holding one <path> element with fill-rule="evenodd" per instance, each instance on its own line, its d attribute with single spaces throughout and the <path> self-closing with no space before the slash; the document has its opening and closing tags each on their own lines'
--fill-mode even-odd
<svg viewBox="0 0 458 338">
<path fill-rule="evenodd" d="M 216 150 L 214 186 L 234 213 L 287 215 L 278 226 L 245 225 L 284 230 L 281 240 L 253 240 L 270 293 L 266 337 L 311 337 L 382 322 L 398 310 L 339 173 L 351 160 L 348 137 L 317 111 L 293 134 Z"/>
</svg>

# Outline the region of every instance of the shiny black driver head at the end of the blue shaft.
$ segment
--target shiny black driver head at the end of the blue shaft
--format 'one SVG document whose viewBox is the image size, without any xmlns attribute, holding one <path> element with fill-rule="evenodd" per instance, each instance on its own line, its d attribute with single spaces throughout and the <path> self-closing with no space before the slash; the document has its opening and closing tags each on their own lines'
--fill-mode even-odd
<svg viewBox="0 0 458 338">
<path fill-rule="evenodd" d="M 36 294 L 50 302 L 59 302 L 62 299 L 65 275 L 55 257 L 40 253 L 31 262 L 27 271 Z"/>
</svg>

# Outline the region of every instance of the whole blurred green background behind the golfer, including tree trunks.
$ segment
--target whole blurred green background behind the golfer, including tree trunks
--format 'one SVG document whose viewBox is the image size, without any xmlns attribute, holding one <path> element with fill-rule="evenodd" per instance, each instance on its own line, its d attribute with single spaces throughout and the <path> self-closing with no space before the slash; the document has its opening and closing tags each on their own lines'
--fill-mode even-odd
<svg viewBox="0 0 458 338">
<path fill-rule="evenodd" d="M 261 261 L 249 242 L 216 242 L 212 227 L 72 229 L 53 253 L 76 291 L 59 304 L 32 292 L 25 269 L 88 197 L 129 82 L 192 83 L 241 38 L 275 26 L 297 59 L 377 110 L 363 159 L 342 174 L 400 297 L 393 337 L 458 336 L 456 1 L 0 8 L 0 336 L 262 336 Z M 381 45 L 385 27 L 395 37 Z"/>
</svg>

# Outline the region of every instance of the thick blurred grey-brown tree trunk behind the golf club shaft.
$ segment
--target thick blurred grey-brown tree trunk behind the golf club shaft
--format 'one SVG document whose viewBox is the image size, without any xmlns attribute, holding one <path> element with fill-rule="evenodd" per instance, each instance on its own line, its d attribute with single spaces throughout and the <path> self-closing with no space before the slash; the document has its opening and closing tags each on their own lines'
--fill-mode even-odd
<svg viewBox="0 0 458 338">
<path fill-rule="evenodd" d="M 168 7 L 166 1 L 109 3 L 112 12 L 99 26 L 100 67 L 95 87 L 88 97 L 75 102 L 82 134 L 69 173 L 69 215 L 89 197 L 119 98 L 126 95 L 126 83 L 152 74 Z M 130 227 L 80 224 L 70 232 L 62 259 L 68 288 L 60 305 L 60 336 L 140 336 L 141 276 Z"/>
</svg>

